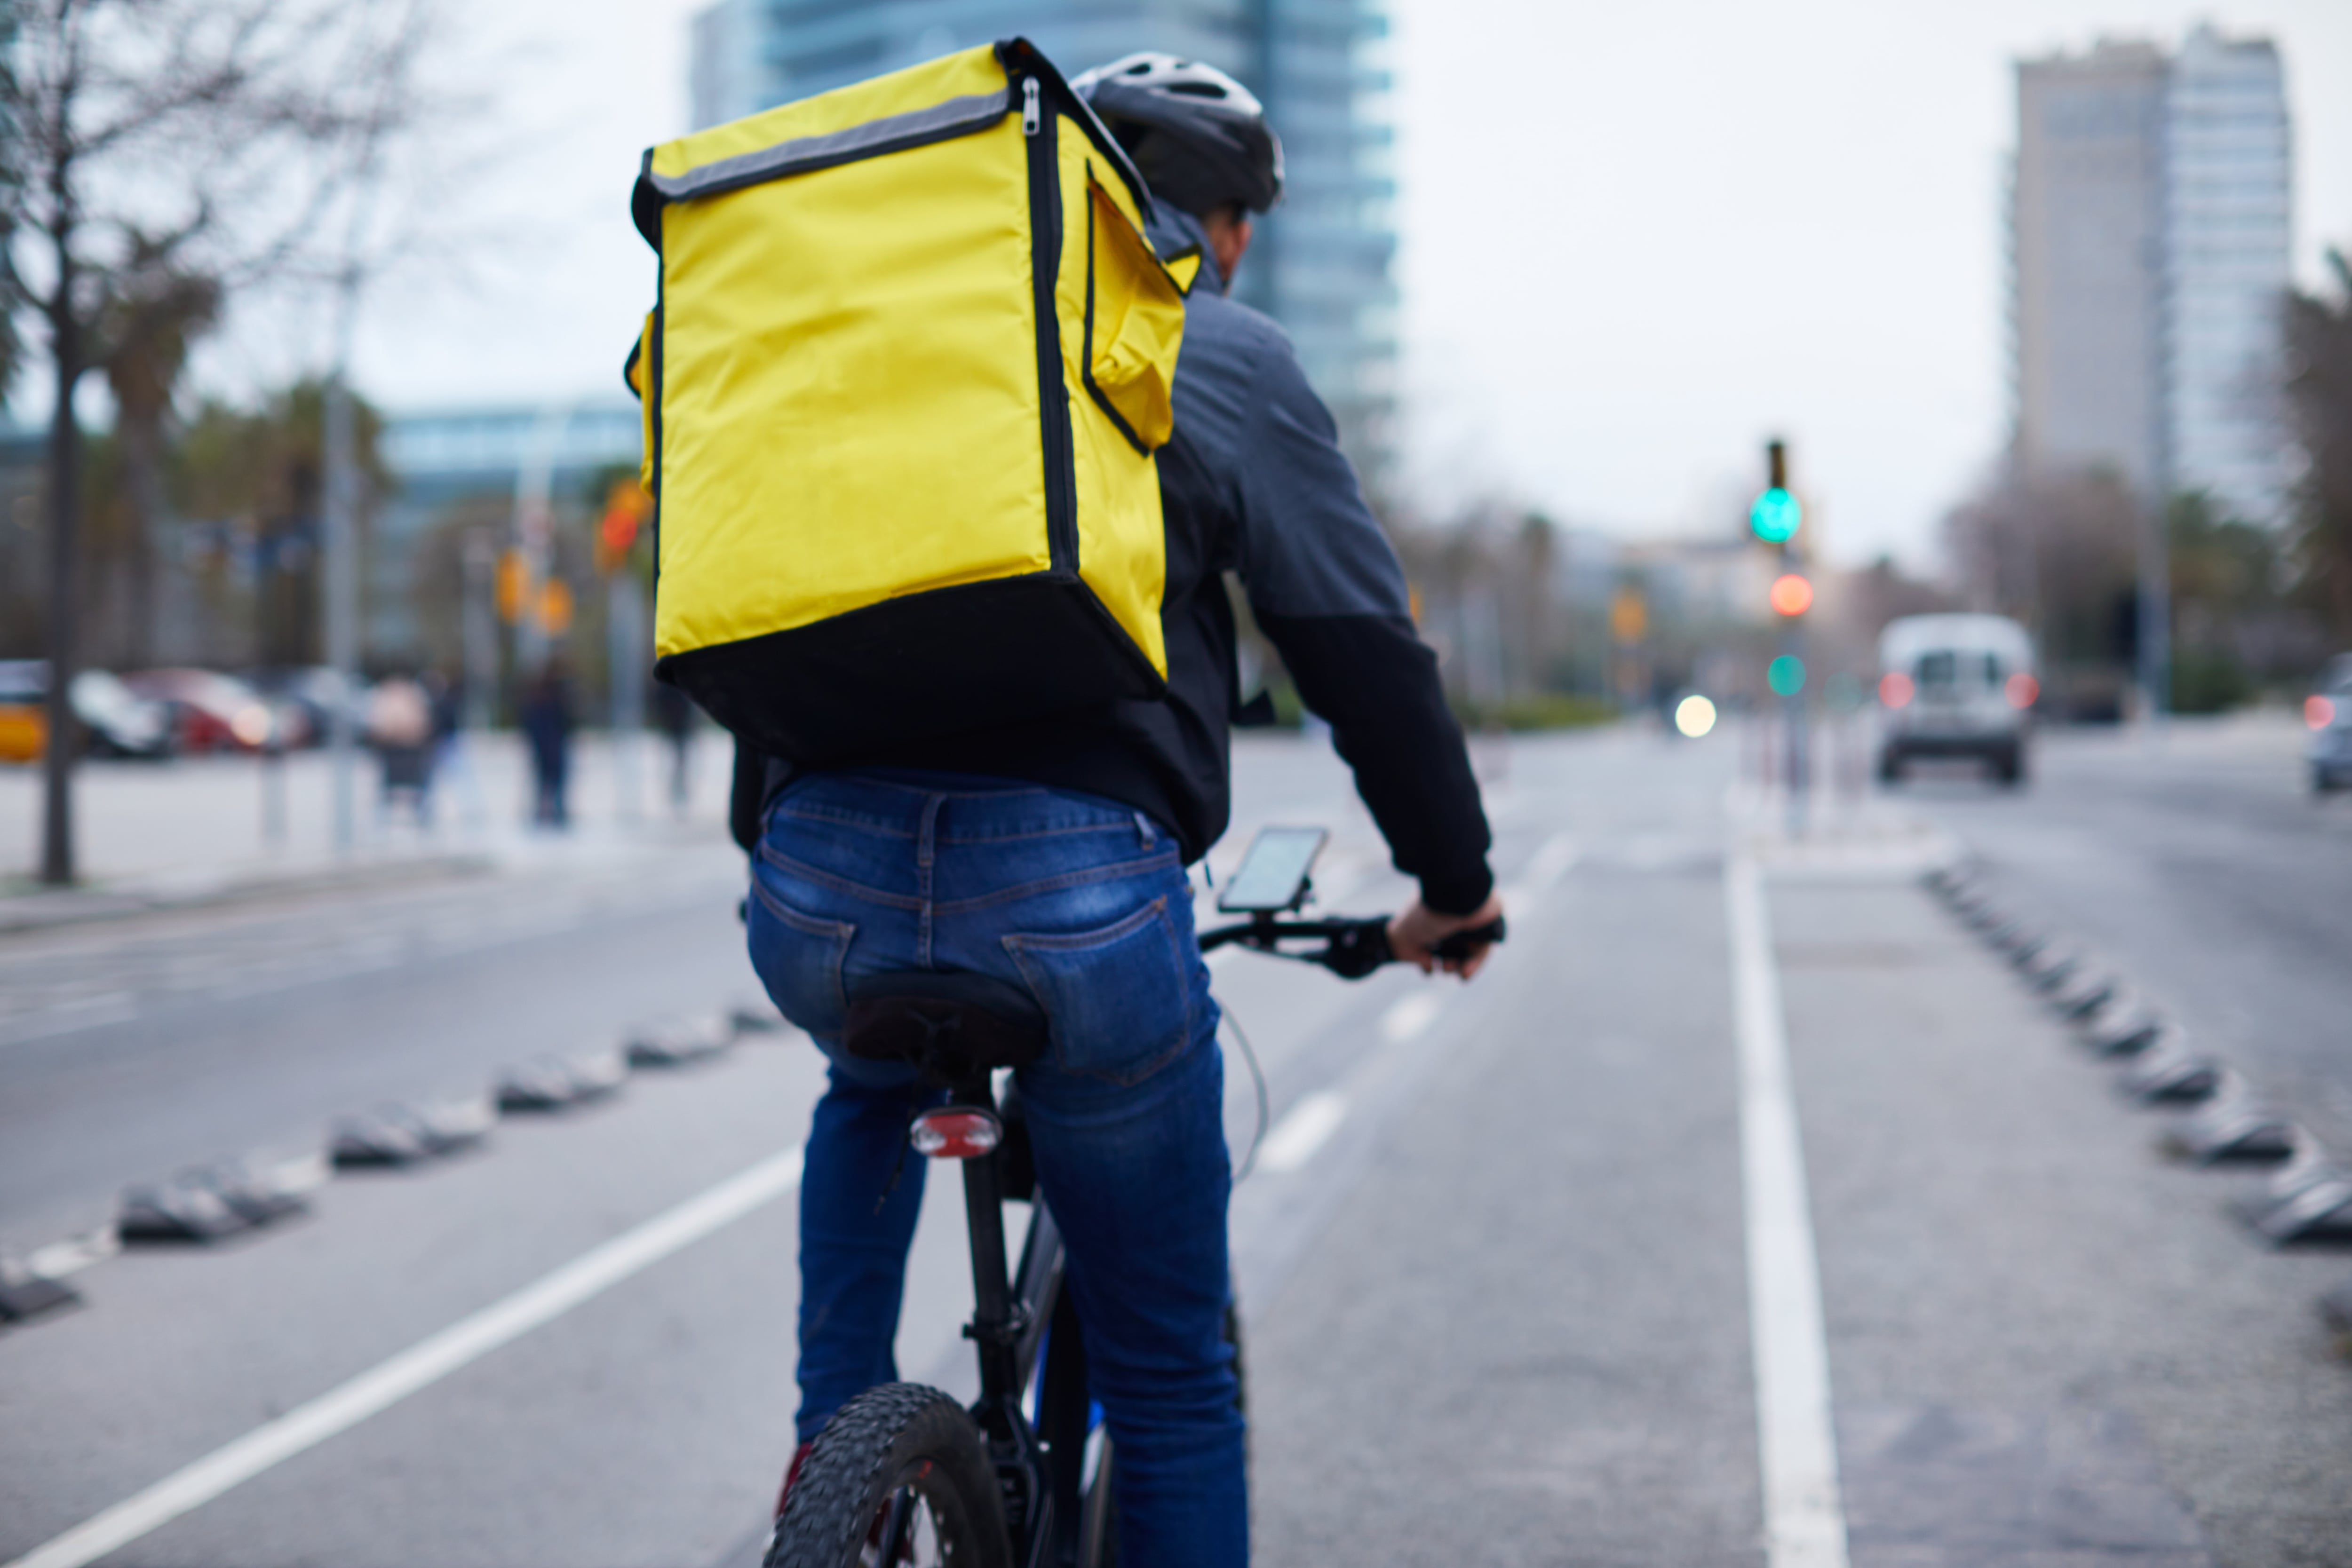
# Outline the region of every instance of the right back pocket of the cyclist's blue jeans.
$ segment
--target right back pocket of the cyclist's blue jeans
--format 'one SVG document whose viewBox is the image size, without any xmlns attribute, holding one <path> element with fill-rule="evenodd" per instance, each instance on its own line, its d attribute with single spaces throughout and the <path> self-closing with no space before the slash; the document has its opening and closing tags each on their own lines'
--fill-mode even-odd
<svg viewBox="0 0 2352 1568">
<path fill-rule="evenodd" d="M 1002 940 L 1044 1009 L 1063 1072 L 1141 1084 L 1192 1039 L 1190 954 L 1164 896 L 1098 931 Z"/>
</svg>

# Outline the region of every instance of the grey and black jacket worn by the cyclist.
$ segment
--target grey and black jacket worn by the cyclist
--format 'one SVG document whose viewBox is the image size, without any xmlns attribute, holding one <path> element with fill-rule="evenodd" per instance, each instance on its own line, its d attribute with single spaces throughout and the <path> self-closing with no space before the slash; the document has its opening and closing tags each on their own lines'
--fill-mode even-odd
<svg viewBox="0 0 2352 1568">
<path fill-rule="evenodd" d="M 1486 813 L 1437 658 L 1414 635 L 1397 552 L 1282 329 L 1218 294 L 1190 216 L 1162 209 L 1152 242 L 1162 254 L 1202 252 L 1176 360 L 1176 433 L 1160 449 L 1167 698 L 908 743 L 842 766 L 1103 795 L 1148 811 L 1197 860 L 1232 811 L 1240 682 L 1223 574 L 1235 571 L 1301 701 L 1331 724 L 1397 870 L 1421 882 L 1430 907 L 1468 914 L 1494 886 Z M 734 830 L 746 849 L 795 771 L 739 752 Z"/>
</svg>

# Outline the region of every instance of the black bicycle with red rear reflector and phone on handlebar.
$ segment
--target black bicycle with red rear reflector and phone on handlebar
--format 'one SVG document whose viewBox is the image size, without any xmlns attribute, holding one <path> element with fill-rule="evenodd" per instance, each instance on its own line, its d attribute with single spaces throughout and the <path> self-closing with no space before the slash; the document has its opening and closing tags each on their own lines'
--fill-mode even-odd
<svg viewBox="0 0 2352 1568">
<path fill-rule="evenodd" d="M 1385 917 L 1284 919 L 1312 893 L 1324 844 L 1315 827 L 1251 839 L 1218 910 L 1249 919 L 1202 931 L 1228 943 L 1322 964 L 1362 980 L 1390 964 Z M 1503 922 L 1461 931 L 1439 957 L 1465 959 L 1503 940 Z M 1308 950 L 1287 943 L 1317 943 Z M 971 1324 L 981 1396 L 960 1406 L 917 1382 L 884 1382 L 818 1432 L 762 1568 L 1105 1568 L 1117 1561 L 1115 1448 L 1087 1389 L 1084 1333 L 1063 1293 L 1063 1246 L 1037 1194 L 1018 1091 L 995 1072 L 1044 1051 L 1044 1016 L 1007 980 L 969 973 L 889 973 L 849 985 L 844 1048 L 913 1063 L 948 1103 L 920 1112 L 908 1143 L 964 1168 L 971 1239 Z M 1263 1128 L 1261 1128 L 1263 1131 Z M 1007 1267 L 1004 1204 L 1028 1201 L 1021 1260 Z M 1225 1307 L 1240 1380 L 1240 1316 Z M 1237 1394 L 1237 1401 L 1242 1394 Z"/>
</svg>

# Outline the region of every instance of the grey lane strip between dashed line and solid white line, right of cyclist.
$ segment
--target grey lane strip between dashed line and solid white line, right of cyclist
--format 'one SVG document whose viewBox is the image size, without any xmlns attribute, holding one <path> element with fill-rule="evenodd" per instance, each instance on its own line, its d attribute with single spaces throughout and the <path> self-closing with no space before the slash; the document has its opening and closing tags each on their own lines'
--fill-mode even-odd
<svg viewBox="0 0 2352 1568">
<path fill-rule="evenodd" d="M 1244 1302 L 1261 1561 L 1757 1561 L 1719 858 L 1628 846 L 1515 910 Z"/>
</svg>

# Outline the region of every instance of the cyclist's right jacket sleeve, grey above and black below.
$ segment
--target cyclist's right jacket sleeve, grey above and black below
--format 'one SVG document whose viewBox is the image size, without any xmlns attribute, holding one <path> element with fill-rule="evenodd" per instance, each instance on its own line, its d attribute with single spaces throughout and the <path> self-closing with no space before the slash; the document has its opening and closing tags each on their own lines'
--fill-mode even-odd
<svg viewBox="0 0 2352 1568">
<path fill-rule="evenodd" d="M 1494 891 L 1486 811 L 1437 656 L 1414 632 L 1404 569 L 1298 360 L 1268 353 L 1240 463 L 1242 581 L 1258 625 L 1324 722 L 1397 870 L 1432 910 Z"/>
</svg>

